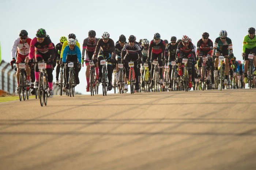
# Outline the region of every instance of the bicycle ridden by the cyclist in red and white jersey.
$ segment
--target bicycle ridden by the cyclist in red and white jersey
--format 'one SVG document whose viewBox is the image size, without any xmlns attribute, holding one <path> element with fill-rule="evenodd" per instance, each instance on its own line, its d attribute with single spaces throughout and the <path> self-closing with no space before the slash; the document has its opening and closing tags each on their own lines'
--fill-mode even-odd
<svg viewBox="0 0 256 170">
<path fill-rule="evenodd" d="M 20 76 L 19 76 L 19 100 L 23 101 L 29 100 L 29 86 L 26 85 L 26 80 L 27 80 L 27 73 L 25 71 L 26 68 L 26 63 L 17 63 L 15 62 L 14 64 L 19 65 L 20 69 Z M 13 65 L 11 66 L 13 69 Z"/>
</svg>

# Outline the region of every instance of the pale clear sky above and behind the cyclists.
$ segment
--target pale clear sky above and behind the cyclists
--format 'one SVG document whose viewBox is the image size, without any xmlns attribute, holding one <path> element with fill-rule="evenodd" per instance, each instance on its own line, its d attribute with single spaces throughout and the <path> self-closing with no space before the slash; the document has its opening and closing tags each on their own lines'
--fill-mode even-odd
<svg viewBox="0 0 256 170">
<path fill-rule="evenodd" d="M 242 40 L 249 27 L 255 25 L 256 1 L 241 0 L 8 0 L 0 5 L 1 59 L 11 61 L 13 42 L 20 30 L 26 30 L 30 38 L 39 28 L 44 28 L 52 42 L 59 43 L 61 36 L 74 33 L 82 48 L 89 30 L 96 37 L 109 32 L 116 42 L 121 34 L 127 39 L 153 39 L 158 32 L 161 39 L 171 36 L 181 39 L 187 35 L 196 45 L 203 32 L 210 34 L 214 42 L 220 30 L 226 30 L 232 40 L 233 53 L 242 60 Z M 53 71 L 55 81 L 55 70 Z M 86 93 L 85 67 L 79 73 L 80 84 L 76 91 Z M 113 90 L 111 91 L 113 92 Z M 101 92 L 102 93 L 102 92 Z"/>
</svg>

